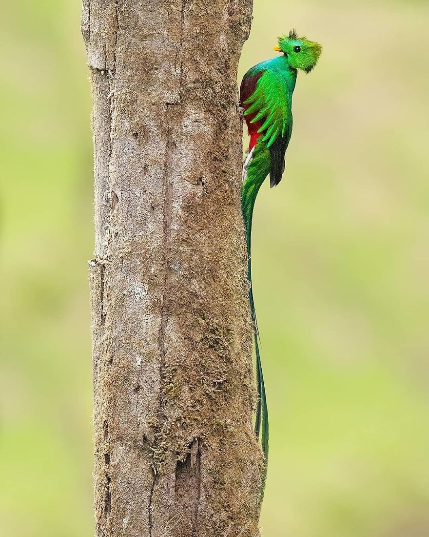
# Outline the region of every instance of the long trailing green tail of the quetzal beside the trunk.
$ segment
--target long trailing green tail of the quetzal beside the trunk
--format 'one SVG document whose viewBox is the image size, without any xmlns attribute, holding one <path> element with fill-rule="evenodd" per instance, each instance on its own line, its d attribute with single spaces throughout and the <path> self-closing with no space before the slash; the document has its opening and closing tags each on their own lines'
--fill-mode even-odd
<svg viewBox="0 0 429 537">
<path fill-rule="evenodd" d="M 252 264 L 250 261 L 250 243 L 252 237 L 252 217 L 255 206 L 256 196 L 264 182 L 264 179 L 269 173 L 269 150 L 262 143 L 257 143 L 250 151 L 246 162 L 243 166 L 243 186 L 241 188 L 241 210 L 246 228 L 246 243 L 247 243 L 247 278 L 249 280 L 249 303 L 252 312 L 252 321 L 254 327 L 255 351 L 256 351 L 256 382 L 258 390 L 258 403 L 256 407 L 255 418 L 255 434 L 259 439 L 261 437 L 261 446 L 265 458 L 265 469 L 263 475 L 263 488 L 265 486 L 265 478 L 267 477 L 268 464 L 268 408 L 267 397 L 265 394 L 264 377 L 262 374 L 261 355 L 259 350 L 259 334 L 256 321 L 255 302 L 253 299 L 252 288 Z M 262 492 L 263 494 L 263 492 Z M 261 498 L 262 500 L 262 498 Z"/>
</svg>

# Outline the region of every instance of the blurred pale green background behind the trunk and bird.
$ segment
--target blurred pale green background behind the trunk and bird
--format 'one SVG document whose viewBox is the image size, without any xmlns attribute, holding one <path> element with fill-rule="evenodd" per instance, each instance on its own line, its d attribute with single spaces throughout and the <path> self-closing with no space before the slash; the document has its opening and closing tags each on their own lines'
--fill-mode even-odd
<svg viewBox="0 0 429 537">
<path fill-rule="evenodd" d="M 90 85 L 78 0 L 2 7 L 0 533 L 91 535 Z M 254 221 L 271 537 L 429 535 L 428 2 L 256 0 L 297 27 L 286 174 Z"/>
</svg>

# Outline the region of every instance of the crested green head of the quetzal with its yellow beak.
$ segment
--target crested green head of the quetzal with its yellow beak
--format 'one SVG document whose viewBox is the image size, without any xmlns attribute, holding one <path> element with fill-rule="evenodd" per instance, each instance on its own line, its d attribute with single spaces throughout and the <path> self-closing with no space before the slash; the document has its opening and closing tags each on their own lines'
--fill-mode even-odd
<svg viewBox="0 0 429 537">
<path fill-rule="evenodd" d="M 274 47 L 277 52 L 283 52 L 287 56 L 287 61 L 293 69 L 302 69 L 310 72 L 319 60 L 322 47 L 315 41 L 309 41 L 305 37 L 298 37 L 295 30 L 291 30 L 289 35 L 278 38 L 278 47 Z"/>
</svg>

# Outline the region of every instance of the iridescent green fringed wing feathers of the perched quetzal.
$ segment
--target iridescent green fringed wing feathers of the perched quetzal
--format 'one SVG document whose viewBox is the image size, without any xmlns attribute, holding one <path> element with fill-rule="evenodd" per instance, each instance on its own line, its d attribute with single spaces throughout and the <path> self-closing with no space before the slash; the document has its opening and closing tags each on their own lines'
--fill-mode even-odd
<svg viewBox="0 0 429 537">
<path fill-rule="evenodd" d="M 256 114 L 250 121 L 261 121 L 259 133 L 267 147 L 284 136 L 291 122 L 291 96 L 284 78 L 276 70 L 267 69 L 256 83 L 255 91 L 245 101 L 249 105 L 245 115 Z"/>
</svg>

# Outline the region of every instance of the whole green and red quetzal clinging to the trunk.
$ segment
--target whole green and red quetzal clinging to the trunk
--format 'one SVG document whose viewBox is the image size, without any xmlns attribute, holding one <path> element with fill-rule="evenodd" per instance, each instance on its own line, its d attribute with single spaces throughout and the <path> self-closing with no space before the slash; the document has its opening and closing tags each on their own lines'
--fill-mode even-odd
<svg viewBox="0 0 429 537">
<path fill-rule="evenodd" d="M 256 353 L 258 401 L 255 434 L 258 440 L 261 437 L 264 454 L 262 491 L 267 478 L 269 424 L 252 287 L 252 216 L 258 191 L 265 178 L 270 176 L 272 188 L 280 183 L 285 170 L 285 154 L 292 134 L 292 94 L 298 70 L 308 74 L 314 69 L 322 52 L 319 43 L 309 41 L 306 37 L 298 37 L 295 30 L 291 30 L 289 35 L 279 37 L 278 46 L 273 49 L 282 54 L 250 68 L 240 85 L 240 105 L 250 136 L 249 152 L 243 164 L 241 210 L 246 231 L 249 303 Z"/>
</svg>

